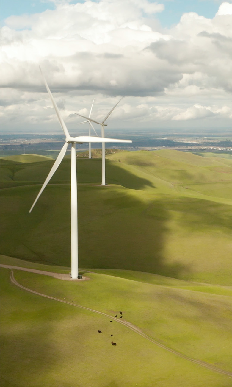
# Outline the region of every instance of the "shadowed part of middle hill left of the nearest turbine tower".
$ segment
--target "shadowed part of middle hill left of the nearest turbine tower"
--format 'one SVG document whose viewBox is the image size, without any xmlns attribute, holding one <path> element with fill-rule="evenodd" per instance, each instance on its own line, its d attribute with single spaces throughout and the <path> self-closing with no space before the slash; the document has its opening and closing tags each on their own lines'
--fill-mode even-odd
<svg viewBox="0 0 232 387">
<path fill-rule="evenodd" d="M 1 249 L 39 263 L 70 262 L 70 187 L 51 185 L 30 214 L 39 186 L 2 191 Z M 4 219 L 4 221 L 3 221 Z"/>
</svg>

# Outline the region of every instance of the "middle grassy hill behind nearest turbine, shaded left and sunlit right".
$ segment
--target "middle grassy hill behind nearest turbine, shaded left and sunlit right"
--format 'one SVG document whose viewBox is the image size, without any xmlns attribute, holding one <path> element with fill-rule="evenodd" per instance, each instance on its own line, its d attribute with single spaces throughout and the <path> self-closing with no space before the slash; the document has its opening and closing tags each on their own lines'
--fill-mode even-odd
<svg viewBox="0 0 232 387">
<path fill-rule="evenodd" d="M 37 193 L 32 185 L 2 190 L 2 253 L 69 266 L 70 187 L 49 185 L 29 214 Z M 229 285 L 229 206 L 140 195 L 114 185 L 79 186 L 80 267 Z"/>
</svg>

